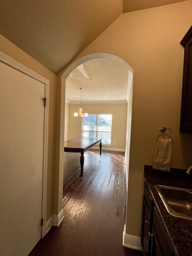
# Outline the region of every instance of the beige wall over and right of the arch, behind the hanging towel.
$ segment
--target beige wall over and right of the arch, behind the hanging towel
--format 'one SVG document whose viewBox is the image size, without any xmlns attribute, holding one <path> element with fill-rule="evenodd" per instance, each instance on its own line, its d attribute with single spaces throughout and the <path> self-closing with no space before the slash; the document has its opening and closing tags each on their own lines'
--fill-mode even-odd
<svg viewBox="0 0 192 256">
<path fill-rule="evenodd" d="M 179 133 L 184 58 L 180 41 L 192 24 L 191 13 L 190 0 L 122 14 L 76 58 L 111 53 L 134 69 L 126 220 L 131 235 L 141 234 L 143 168 L 153 162 L 161 126 L 175 134 L 172 167 L 191 165 L 192 134 Z"/>
</svg>

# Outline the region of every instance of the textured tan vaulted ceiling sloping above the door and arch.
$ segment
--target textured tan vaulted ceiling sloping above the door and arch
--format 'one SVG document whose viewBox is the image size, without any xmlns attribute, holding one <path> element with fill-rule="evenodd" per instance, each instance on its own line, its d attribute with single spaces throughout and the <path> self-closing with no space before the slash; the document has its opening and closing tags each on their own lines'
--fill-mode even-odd
<svg viewBox="0 0 192 256">
<path fill-rule="evenodd" d="M 181 1 L 5 0 L 0 6 L 0 33 L 58 74 L 122 12 Z"/>
</svg>

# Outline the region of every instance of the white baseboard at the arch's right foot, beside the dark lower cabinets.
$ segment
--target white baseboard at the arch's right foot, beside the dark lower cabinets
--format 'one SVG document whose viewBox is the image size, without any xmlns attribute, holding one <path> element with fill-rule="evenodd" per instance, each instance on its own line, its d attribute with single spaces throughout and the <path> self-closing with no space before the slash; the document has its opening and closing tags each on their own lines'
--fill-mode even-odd
<svg viewBox="0 0 192 256">
<path fill-rule="evenodd" d="M 125 230 L 126 230 L 126 228 L 125 228 L 125 225 L 124 225 L 123 246 L 131 248 L 131 249 L 135 249 L 135 250 L 138 250 L 138 251 L 142 251 L 141 237 L 139 237 L 139 236 L 132 236 L 132 235 L 126 234 Z"/>
</svg>

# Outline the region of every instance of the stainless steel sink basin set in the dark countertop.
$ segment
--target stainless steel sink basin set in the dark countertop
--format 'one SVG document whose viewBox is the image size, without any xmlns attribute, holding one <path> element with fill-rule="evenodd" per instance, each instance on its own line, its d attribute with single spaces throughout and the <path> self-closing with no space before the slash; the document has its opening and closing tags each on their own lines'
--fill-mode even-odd
<svg viewBox="0 0 192 256">
<path fill-rule="evenodd" d="M 180 218 L 192 219 L 192 190 L 155 185 L 167 211 Z"/>
</svg>

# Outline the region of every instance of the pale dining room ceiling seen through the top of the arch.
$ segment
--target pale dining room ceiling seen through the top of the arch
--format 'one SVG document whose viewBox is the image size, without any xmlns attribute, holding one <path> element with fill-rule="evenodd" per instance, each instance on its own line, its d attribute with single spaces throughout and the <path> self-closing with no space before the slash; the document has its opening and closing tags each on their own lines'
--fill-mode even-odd
<svg viewBox="0 0 192 256">
<path fill-rule="evenodd" d="M 66 80 L 66 100 L 126 101 L 128 68 L 111 59 L 89 60 L 71 72 Z"/>
</svg>

